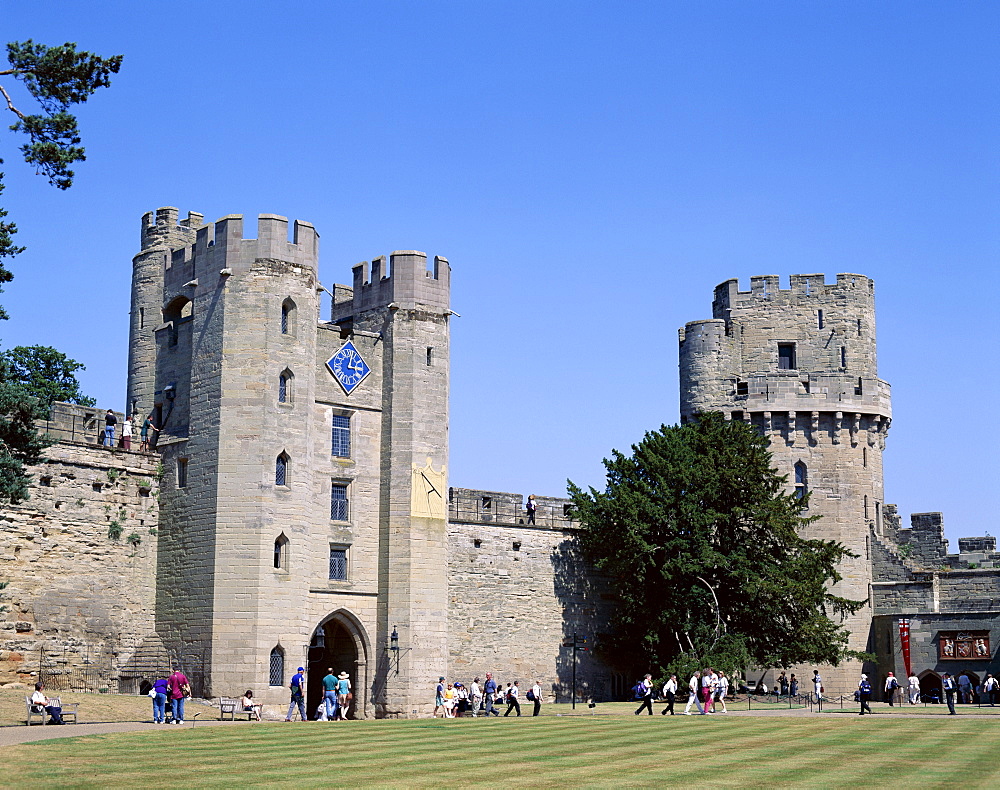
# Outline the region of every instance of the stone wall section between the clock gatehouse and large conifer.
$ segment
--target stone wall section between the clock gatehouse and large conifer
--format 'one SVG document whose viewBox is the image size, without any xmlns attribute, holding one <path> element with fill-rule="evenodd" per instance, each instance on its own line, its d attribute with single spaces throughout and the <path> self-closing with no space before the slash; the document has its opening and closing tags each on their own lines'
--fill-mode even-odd
<svg viewBox="0 0 1000 790">
<path fill-rule="evenodd" d="M 568 701 L 573 635 L 592 646 L 612 606 L 579 554 L 577 525 L 562 517 L 569 500 L 537 498 L 541 517 L 531 526 L 520 494 L 453 488 L 450 495 L 448 679 L 492 672 L 522 688 L 537 680 L 549 701 Z M 577 662 L 578 698 L 608 699 L 608 668 L 589 651 L 578 651 Z"/>
</svg>

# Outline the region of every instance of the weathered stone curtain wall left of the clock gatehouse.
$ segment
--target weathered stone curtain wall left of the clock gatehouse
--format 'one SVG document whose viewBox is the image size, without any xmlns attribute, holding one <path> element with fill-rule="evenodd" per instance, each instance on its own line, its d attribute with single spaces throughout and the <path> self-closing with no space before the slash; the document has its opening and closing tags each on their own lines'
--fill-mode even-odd
<svg viewBox="0 0 1000 790">
<path fill-rule="evenodd" d="M 0 510 L 0 682 L 136 683 L 126 665 L 154 631 L 159 458 L 97 446 L 94 418 L 55 404 L 40 427 L 65 438 L 31 469 L 31 497 Z"/>
</svg>

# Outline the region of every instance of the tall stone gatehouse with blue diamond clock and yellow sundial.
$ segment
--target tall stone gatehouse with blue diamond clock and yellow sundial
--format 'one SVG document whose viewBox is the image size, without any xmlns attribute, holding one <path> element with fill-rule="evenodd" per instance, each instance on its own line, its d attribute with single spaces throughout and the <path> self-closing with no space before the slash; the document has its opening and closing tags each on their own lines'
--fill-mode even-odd
<svg viewBox="0 0 1000 790">
<path fill-rule="evenodd" d="M 127 403 L 162 429 L 156 628 L 199 694 L 287 703 L 302 665 L 310 710 L 332 668 L 358 717 L 426 713 L 448 662 L 450 267 L 359 264 L 322 320 L 317 256 L 284 217 L 256 239 L 236 215 L 143 217 Z"/>
</svg>

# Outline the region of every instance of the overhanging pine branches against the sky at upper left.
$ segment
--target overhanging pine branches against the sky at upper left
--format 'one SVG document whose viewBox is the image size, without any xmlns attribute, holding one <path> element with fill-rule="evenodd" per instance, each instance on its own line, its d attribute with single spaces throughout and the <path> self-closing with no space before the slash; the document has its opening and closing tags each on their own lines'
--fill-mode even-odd
<svg viewBox="0 0 1000 790">
<path fill-rule="evenodd" d="M 109 86 L 111 75 L 117 74 L 121 67 L 122 56 L 102 58 L 90 52 L 77 52 L 76 44 L 48 47 L 29 39 L 7 44 L 7 59 L 10 68 L 0 71 L 0 77 L 23 83 L 41 110 L 38 114 L 22 112 L 0 83 L 0 95 L 6 100 L 7 109 L 18 118 L 11 130 L 28 135 L 28 142 L 21 146 L 24 161 L 34 165 L 35 172 L 46 176 L 53 186 L 69 189 L 75 175 L 70 166 L 84 161 L 86 156 L 80 146 L 76 116 L 68 110 L 74 104 L 86 102 L 98 88 Z M 3 173 L 0 173 L 0 192 L 3 188 Z M 0 208 L 0 291 L 2 284 L 14 276 L 4 265 L 4 258 L 24 251 L 14 244 L 17 226 L 6 221 L 6 216 L 7 212 Z M 0 318 L 6 317 L 6 311 L 0 307 Z"/>
</svg>

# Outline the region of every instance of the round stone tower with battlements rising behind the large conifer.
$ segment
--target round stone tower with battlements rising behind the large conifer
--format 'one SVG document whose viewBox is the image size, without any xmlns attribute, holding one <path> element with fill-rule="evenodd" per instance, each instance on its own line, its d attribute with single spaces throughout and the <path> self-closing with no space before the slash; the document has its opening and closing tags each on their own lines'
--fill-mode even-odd
<svg viewBox="0 0 1000 790">
<path fill-rule="evenodd" d="M 737 280 L 715 289 L 712 319 L 680 330 L 681 420 L 721 411 L 771 440 L 779 472 L 809 491 L 810 537 L 837 540 L 855 559 L 840 567 L 838 595 L 866 601 L 849 618 L 850 647 L 866 650 L 871 628 L 870 533 L 883 518 L 882 451 L 891 420 L 889 385 L 878 378 L 874 283 L 857 274 L 793 274 Z M 811 668 L 810 668 L 811 669 Z M 803 679 L 809 674 L 800 673 Z M 856 665 L 823 671 L 846 693 Z"/>
</svg>

